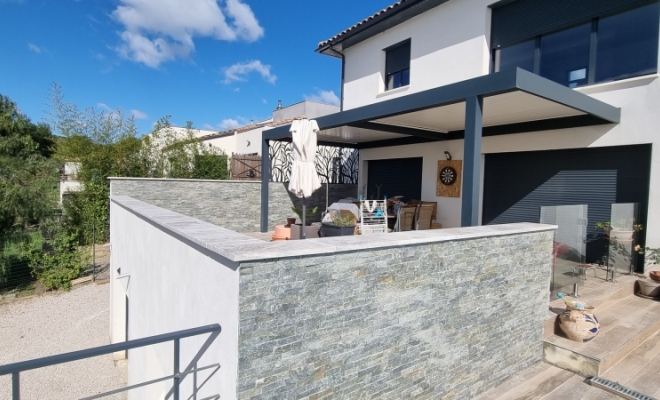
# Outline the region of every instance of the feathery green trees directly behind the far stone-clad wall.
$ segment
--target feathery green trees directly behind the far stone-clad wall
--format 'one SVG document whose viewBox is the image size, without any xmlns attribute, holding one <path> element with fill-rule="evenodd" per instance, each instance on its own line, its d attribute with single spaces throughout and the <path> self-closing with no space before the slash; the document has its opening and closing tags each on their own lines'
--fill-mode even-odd
<svg viewBox="0 0 660 400">
<path fill-rule="evenodd" d="M 148 135 L 138 137 L 135 121 L 121 110 L 99 112 L 67 102 L 58 85 L 51 90 L 53 129 L 60 135 L 56 157 L 77 162 L 82 191 L 68 196 L 64 225 L 80 243 L 107 240 L 110 183 L 108 177 L 228 179 L 227 156 L 204 146 L 194 136 L 192 123 L 173 128 L 161 118 Z"/>
</svg>

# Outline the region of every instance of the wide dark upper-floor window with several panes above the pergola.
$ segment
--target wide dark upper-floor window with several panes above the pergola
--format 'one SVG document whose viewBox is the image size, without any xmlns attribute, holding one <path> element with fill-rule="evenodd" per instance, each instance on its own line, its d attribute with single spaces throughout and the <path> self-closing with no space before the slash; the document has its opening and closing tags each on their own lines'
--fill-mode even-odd
<svg viewBox="0 0 660 400">
<path fill-rule="evenodd" d="M 522 68 L 568 87 L 657 72 L 660 3 L 495 49 L 495 72 Z"/>
</svg>

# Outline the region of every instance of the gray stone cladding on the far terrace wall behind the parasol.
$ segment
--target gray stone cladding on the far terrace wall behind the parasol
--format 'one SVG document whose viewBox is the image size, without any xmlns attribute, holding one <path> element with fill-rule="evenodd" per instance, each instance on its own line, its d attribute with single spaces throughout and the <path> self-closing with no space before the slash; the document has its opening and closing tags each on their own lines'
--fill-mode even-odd
<svg viewBox="0 0 660 400">
<path fill-rule="evenodd" d="M 110 178 L 111 196 L 128 196 L 158 207 L 176 211 L 236 232 L 258 232 L 261 215 L 261 182 L 194 179 Z M 295 216 L 291 207 L 302 206 L 302 199 L 287 190 L 287 183 L 271 182 L 269 187 L 269 229 L 285 224 Z M 325 209 L 323 185 L 306 200 L 308 208 L 318 206 L 312 222 L 319 221 Z M 330 204 L 346 197 L 357 197 L 357 185 L 329 185 Z"/>
</svg>

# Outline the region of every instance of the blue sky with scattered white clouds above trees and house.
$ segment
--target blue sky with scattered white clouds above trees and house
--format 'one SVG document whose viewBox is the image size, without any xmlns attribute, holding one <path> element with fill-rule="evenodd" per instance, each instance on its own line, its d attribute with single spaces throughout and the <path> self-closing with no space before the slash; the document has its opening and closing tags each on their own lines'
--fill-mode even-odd
<svg viewBox="0 0 660 400">
<path fill-rule="evenodd" d="M 282 100 L 337 101 L 339 59 L 314 52 L 393 0 L 0 0 L 0 94 L 34 122 L 59 84 L 120 108 L 141 133 L 171 115 L 202 129 L 268 118 Z"/>
</svg>

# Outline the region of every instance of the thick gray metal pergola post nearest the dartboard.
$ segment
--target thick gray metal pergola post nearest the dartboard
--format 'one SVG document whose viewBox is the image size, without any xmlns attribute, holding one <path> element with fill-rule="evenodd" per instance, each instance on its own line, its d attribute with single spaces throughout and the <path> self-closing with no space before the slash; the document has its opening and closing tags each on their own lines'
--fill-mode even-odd
<svg viewBox="0 0 660 400">
<path fill-rule="evenodd" d="M 481 137 L 483 98 L 465 99 L 465 142 L 463 154 L 463 195 L 461 226 L 479 225 L 479 187 L 481 185 Z"/>
</svg>

